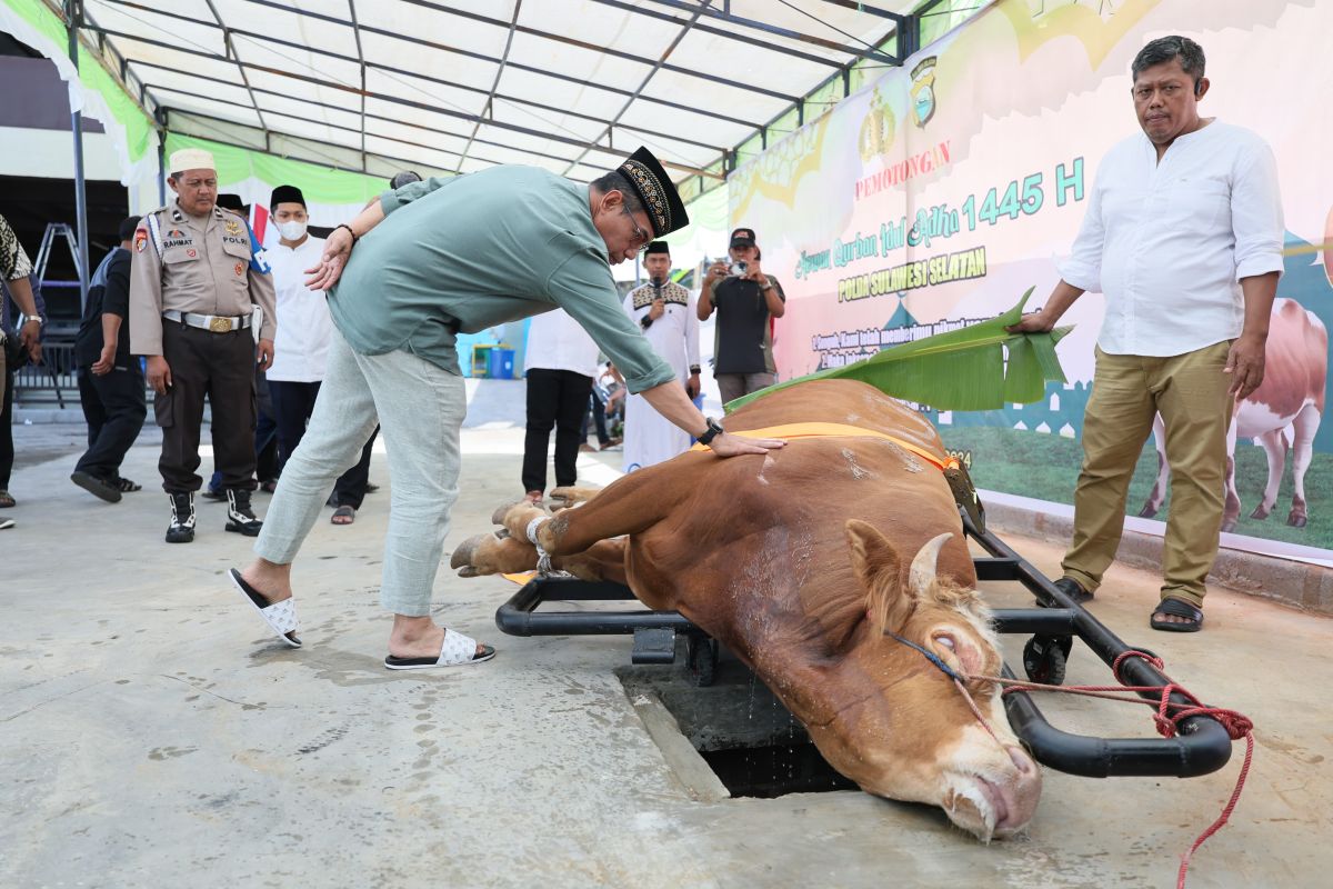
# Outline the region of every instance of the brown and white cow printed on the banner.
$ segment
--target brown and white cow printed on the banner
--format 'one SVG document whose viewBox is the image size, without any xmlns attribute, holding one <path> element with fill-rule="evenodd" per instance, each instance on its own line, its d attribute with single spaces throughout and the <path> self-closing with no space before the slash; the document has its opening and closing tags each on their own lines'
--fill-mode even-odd
<svg viewBox="0 0 1333 889">
<path fill-rule="evenodd" d="M 1264 383 L 1236 405 L 1236 416 L 1226 433 L 1226 505 L 1222 530 L 1233 530 L 1241 514 L 1236 492 L 1236 440 L 1256 439 L 1268 454 L 1268 485 L 1264 498 L 1250 518 L 1268 518 L 1277 505 L 1277 489 L 1286 468 L 1286 449 L 1292 449 L 1292 474 L 1296 490 L 1286 524 L 1304 528 L 1309 520 L 1305 501 L 1305 470 L 1314 452 L 1314 433 L 1324 416 L 1324 387 L 1328 376 L 1329 337 L 1313 312 L 1296 300 L 1273 301 L 1268 348 L 1264 360 Z M 1290 428 L 1290 431 L 1288 431 Z M 1153 444 L 1157 448 L 1157 481 L 1138 514 L 1152 518 L 1166 498 L 1170 466 L 1166 465 L 1166 429 L 1161 415 L 1153 420 Z"/>
</svg>

